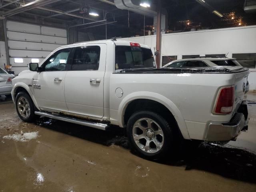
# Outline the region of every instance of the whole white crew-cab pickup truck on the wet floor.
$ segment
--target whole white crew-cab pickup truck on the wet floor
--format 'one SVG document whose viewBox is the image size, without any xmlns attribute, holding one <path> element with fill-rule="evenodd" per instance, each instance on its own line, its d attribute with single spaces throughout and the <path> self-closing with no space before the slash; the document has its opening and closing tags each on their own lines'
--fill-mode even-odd
<svg viewBox="0 0 256 192">
<path fill-rule="evenodd" d="M 247 129 L 242 66 L 156 69 L 148 46 L 106 40 L 62 46 L 29 68 L 12 80 L 22 120 L 117 125 L 148 158 L 175 150 L 178 139 L 235 140 Z"/>
</svg>

